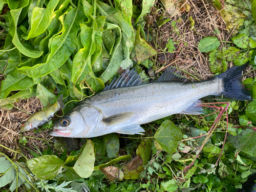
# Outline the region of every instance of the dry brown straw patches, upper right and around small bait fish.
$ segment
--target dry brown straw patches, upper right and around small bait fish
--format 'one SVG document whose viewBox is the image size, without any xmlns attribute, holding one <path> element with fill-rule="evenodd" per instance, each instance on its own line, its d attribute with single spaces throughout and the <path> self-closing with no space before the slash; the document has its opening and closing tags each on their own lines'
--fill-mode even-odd
<svg viewBox="0 0 256 192">
<path fill-rule="evenodd" d="M 209 1 L 210 2 L 210 1 Z M 150 15 L 147 16 L 147 23 L 145 25 L 145 31 L 150 31 L 153 36 L 151 44 L 155 47 L 159 54 L 154 61 L 156 63 L 155 69 L 160 69 L 167 63 L 172 63 L 179 69 L 186 71 L 185 75 L 188 78 L 195 79 L 189 74 L 195 75 L 198 79 L 204 80 L 210 78 L 213 74 L 210 72 L 208 67 L 208 54 L 201 53 L 198 50 L 199 41 L 205 36 L 217 36 L 219 40 L 229 40 L 230 34 L 225 30 L 225 24 L 219 14 L 219 12 L 212 6 L 211 3 L 205 3 L 203 0 L 189 0 L 187 3 L 190 5 L 189 12 L 183 12 L 181 17 L 175 16 L 168 23 L 164 24 L 160 29 L 156 26 L 156 21 L 159 19 L 160 14 L 163 9 L 156 12 L 156 9 L 152 9 Z M 160 1 L 156 2 L 156 6 L 162 8 Z M 195 30 L 190 30 L 191 24 L 189 17 L 195 20 Z M 180 19 L 180 22 L 177 21 Z M 172 22 L 176 21 L 176 29 L 172 27 Z M 215 29 L 219 29 L 219 34 L 214 34 Z M 176 32 L 175 32 L 176 31 Z M 179 31 L 179 33 L 177 33 Z M 167 54 L 167 59 L 161 54 L 165 48 L 168 39 L 172 38 L 174 41 L 183 42 L 179 44 L 176 52 L 172 54 Z M 184 46 L 184 42 L 187 46 Z M 225 44 L 222 42 L 221 47 Z M 228 63 L 228 67 L 232 67 L 232 63 Z M 248 69 L 249 70 L 249 69 Z M 249 77 L 255 77 L 255 72 L 250 73 Z M 34 114 L 42 108 L 40 101 L 37 98 L 30 98 L 19 101 L 14 104 L 17 108 L 22 109 L 26 112 Z M 19 127 L 25 122 L 30 115 L 13 108 L 10 111 L 0 110 L 0 144 L 4 145 L 11 150 L 21 150 L 21 152 L 28 158 L 33 158 L 33 156 L 28 153 L 29 150 L 36 151 L 36 147 L 42 151 L 46 148 L 46 143 L 52 140 L 52 136 L 49 136 L 47 132 L 36 134 L 31 132 L 19 133 Z M 28 143 L 25 148 L 19 143 L 19 139 L 22 136 L 28 136 L 33 138 L 27 138 Z M 51 143 L 51 142 L 50 142 Z M 36 146 L 36 147 L 35 147 Z M 8 154 L 10 157 L 14 156 L 8 150 L 1 147 L 1 151 Z"/>
</svg>

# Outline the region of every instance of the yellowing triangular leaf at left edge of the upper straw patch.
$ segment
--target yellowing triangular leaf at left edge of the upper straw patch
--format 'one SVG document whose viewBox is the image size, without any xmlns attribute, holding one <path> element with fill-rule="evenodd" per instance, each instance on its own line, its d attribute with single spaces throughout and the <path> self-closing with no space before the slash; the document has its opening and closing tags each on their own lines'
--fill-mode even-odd
<svg viewBox="0 0 256 192">
<path fill-rule="evenodd" d="M 137 28 L 134 49 L 136 52 L 134 60 L 136 60 L 138 64 L 157 54 L 157 51 L 140 37 L 140 27 Z"/>
</svg>

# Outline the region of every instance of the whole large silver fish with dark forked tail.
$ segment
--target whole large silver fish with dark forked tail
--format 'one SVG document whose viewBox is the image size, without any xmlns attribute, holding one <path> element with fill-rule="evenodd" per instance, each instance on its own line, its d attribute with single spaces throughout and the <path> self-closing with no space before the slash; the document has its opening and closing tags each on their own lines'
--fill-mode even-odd
<svg viewBox="0 0 256 192">
<path fill-rule="evenodd" d="M 240 84 L 247 64 L 235 66 L 208 80 L 184 82 L 167 69 L 152 83 L 142 83 L 137 72 L 127 69 L 115 82 L 86 98 L 58 120 L 49 134 L 61 137 L 90 138 L 110 133 L 142 134 L 141 124 L 172 114 L 202 114 L 202 97 L 251 100 Z"/>
</svg>

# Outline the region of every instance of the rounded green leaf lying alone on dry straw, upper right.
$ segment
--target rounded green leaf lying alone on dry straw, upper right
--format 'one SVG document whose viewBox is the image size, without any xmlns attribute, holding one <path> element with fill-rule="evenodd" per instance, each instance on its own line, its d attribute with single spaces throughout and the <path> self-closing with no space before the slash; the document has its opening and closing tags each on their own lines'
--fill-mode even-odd
<svg viewBox="0 0 256 192">
<path fill-rule="evenodd" d="M 210 52 L 216 50 L 220 46 L 220 41 L 217 37 L 204 37 L 198 44 L 198 49 L 201 52 Z"/>
</svg>

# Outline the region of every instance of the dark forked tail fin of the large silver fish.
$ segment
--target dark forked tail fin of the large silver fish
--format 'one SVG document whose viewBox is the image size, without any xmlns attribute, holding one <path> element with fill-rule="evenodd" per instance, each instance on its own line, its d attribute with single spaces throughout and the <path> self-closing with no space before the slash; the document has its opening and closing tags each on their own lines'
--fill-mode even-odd
<svg viewBox="0 0 256 192">
<path fill-rule="evenodd" d="M 247 66 L 248 62 L 242 66 L 234 66 L 224 73 L 214 77 L 223 80 L 224 89 L 220 95 L 241 101 L 252 100 L 250 92 L 248 92 L 244 85 L 241 84 L 242 76 L 245 73 Z"/>
</svg>

